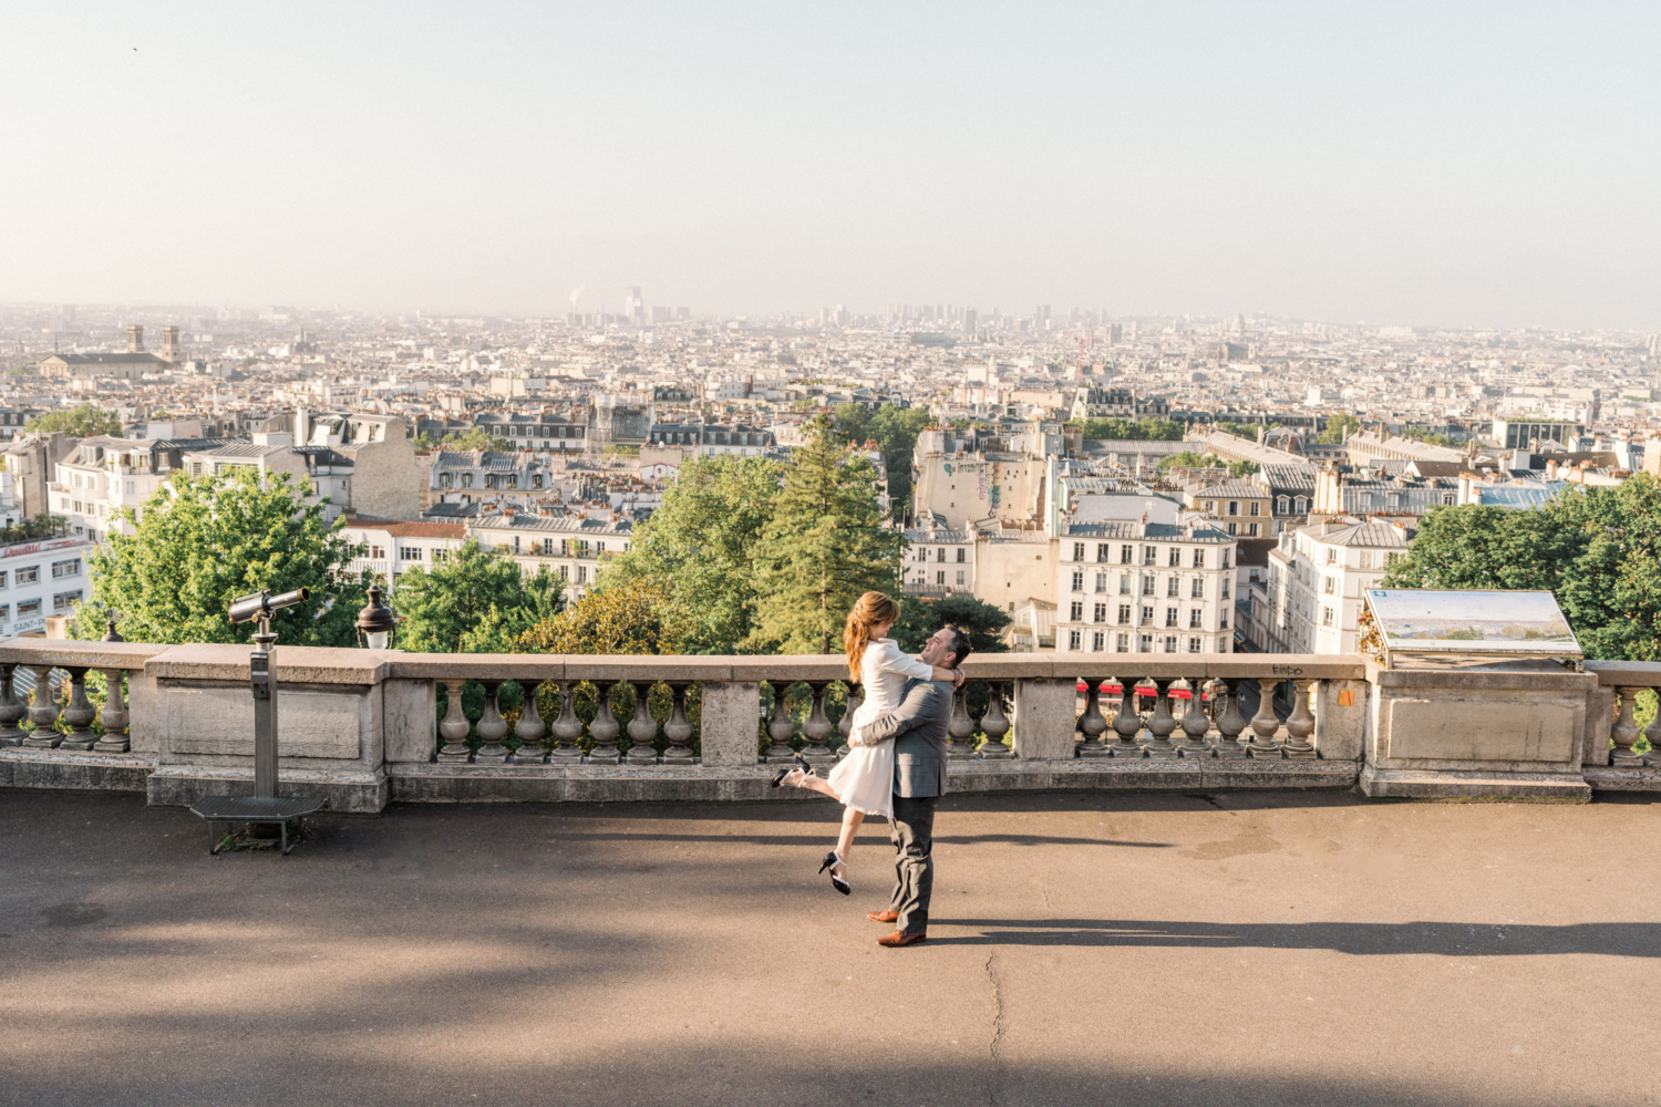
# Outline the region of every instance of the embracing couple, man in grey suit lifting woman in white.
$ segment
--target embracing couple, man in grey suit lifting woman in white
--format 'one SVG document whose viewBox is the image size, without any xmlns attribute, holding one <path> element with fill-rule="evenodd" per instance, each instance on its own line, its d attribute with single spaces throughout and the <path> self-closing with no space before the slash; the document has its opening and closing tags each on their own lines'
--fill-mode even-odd
<svg viewBox="0 0 1661 1107">
<path fill-rule="evenodd" d="M 867 815 L 889 820 L 894 841 L 894 896 L 885 911 L 872 911 L 875 923 L 894 923 L 894 933 L 879 946 L 900 948 L 928 936 L 928 893 L 933 886 L 933 810 L 945 795 L 947 722 L 952 690 L 963 684 L 962 664 L 968 657 L 968 636 L 943 626 L 933 632 L 915 659 L 900 652 L 887 637 L 900 606 L 882 593 L 865 593 L 847 616 L 842 646 L 847 649 L 850 679 L 865 689 L 865 702 L 854 712 L 847 737 L 849 752 L 827 777 L 797 755 L 797 767 L 781 772 L 772 783 L 822 792 L 842 803 L 842 833 L 826 853 L 819 871 L 830 871 L 830 883 L 842 895 L 854 835 Z"/>
</svg>

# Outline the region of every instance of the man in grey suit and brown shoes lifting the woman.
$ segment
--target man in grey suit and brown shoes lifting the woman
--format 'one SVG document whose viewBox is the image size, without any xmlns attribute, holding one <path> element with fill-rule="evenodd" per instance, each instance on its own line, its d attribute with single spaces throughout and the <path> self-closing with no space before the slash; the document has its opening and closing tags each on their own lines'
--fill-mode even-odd
<svg viewBox="0 0 1661 1107">
<path fill-rule="evenodd" d="M 919 656 L 942 669 L 957 669 L 968 657 L 968 636 L 943 626 Z M 894 923 L 879 946 L 899 949 L 928 938 L 928 893 L 933 890 L 933 808 L 945 795 L 947 722 L 952 719 L 950 680 L 907 680 L 900 705 L 877 715 L 860 730 L 860 745 L 894 742 L 894 898 L 887 911 L 872 911 L 875 923 Z"/>
</svg>

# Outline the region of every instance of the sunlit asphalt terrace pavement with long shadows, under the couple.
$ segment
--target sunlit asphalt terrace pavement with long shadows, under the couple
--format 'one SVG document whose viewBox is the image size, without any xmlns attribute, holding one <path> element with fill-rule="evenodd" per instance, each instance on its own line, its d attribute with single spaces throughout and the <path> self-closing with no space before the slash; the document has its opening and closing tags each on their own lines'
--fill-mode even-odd
<svg viewBox="0 0 1661 1107">
<path fill-rule="evenodd" d="M 0 1104 L 1661 1102 L 1661 803 L 397 805 L 291 856 L 0 790 Z"/>
</svg>

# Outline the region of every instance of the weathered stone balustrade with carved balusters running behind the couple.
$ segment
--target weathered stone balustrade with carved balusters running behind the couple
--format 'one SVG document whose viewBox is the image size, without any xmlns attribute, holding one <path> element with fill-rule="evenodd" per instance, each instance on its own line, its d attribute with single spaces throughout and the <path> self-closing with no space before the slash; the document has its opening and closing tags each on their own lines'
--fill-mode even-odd
<svg viewBox="0 0 1661 1107">
<path fill-rule="evenodd" d="M 135 788 L 153 803 L 244 788 L 247 654 L 0 641 L 0 785 Z M 101 709 L 88 672 L 110 690 Z M 1634 749 L 1631 707 L 1636 689 L 1661 685 L 1661 667 L 993 654 L 965 672 L 947 747 L 958 792 L 1359 783 L 1370 795 L 1583 800 L 1591 787 L 1661 790 L 1654 755 Z M 839 656 L 279 646 L 277 679 L 284 790 L 321 792 L 347 812 L 389 800 L 802 800 L 767 780 L 796 753 L 832 765 L 860 697 Z M 35 690 L 32 704 L 18 684 Z"/>
</svg>

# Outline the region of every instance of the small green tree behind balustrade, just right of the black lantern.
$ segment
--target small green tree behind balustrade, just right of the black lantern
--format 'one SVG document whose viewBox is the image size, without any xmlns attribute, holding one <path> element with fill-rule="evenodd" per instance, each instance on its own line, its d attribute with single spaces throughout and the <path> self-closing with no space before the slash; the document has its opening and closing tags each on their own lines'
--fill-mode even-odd
<svg viewBox="0 0 1661 1107">
<path fill-rule="evenodd" d="M 543 586 L 548 583 L 538 584 Z M 558 583 L 550 588 L 551 596 L 540 593 L 532 602 L 558 604 Z M 402 616 L 399 647 L 424 654 L 485 652 L 497 644 L 495 639 L 477 637 L 487 619 L 507 619 L 502 612 L 520 607 L 525 596 L 527 581 L 513 559 L 500 549 L 483 549 L 477 538 L 470 538 L 430 569 L 415 568 L 399 579 L 392 599 L 392 607 Z"/>
</svg>

